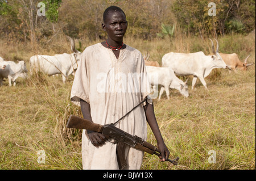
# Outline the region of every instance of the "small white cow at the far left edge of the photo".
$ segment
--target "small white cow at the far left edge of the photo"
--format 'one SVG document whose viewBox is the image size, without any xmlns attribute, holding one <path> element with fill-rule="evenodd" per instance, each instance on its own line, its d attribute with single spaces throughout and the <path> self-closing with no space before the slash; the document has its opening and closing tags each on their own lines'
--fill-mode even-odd
<svg viewBox="0 0 256 181">
<path fill-rule="evenodd" d="M 27 77 L 27 67 L 26 63 L 22 60 L 16 64 L 13 61 L 2 61 L 6 65 L 5 69 L 0 69 L 0 86 L 3 85 L 3 78 L 9 79 L 9 86 L 11 86 L 11 81 L 13 81 L 13 86 L 16 85 L 16 79 L 18 77 Z"/>
</svg>

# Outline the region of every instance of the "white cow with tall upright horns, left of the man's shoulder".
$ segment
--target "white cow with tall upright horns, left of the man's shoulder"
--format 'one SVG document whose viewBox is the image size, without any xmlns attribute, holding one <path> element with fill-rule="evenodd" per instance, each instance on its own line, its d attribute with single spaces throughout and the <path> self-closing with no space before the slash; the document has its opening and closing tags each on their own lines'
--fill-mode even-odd
<svg viewBox="0 0 256 181">
<path fill-rule="evenodd" d="M 75 41 L 68 37 L 71 41 L 71 49 L 73 53 L 48 55 L 35 55 L 30 58 L 30 74 L 33 71 L 42 71 L 49 76 L 62 74 L 63 83 L 66 78 L 77 69 L 77 61 L 81 59 L 82 53 L 75 49 Z"/>
</svg>

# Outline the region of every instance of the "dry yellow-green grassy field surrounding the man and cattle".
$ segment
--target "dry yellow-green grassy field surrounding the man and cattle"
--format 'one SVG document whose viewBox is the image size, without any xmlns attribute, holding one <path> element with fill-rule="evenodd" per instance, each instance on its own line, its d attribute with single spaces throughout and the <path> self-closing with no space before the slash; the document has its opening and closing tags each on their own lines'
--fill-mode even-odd
<svg viewBox="0 0 256 181">
<path fill-rule="evenodd" d="M 163 54 L 174 52 L 210 53 L 209 40 L 176 37 L 172 40 L 143 41 L 126 39 L 127 44 L 150 60 L 160 63 Z M 255 63 L 255 36 L 220 37 L 220 52 L 236 52 L 241 60 L 251 54 Z M 82 48 L 96 42 L 82 41 Z M 78 44 L 77 44 L 78 45 Z M 1 42 L 0 56 L 7 60 L 25 60 L 35 52 L 55 54 L 70 52 L 69 44 L 40 45 Z M 65 129 L 70 114 L 81 116 L 79 107 L 69 101 L 73 77 L 63 84 L 61 77 L 44 74 L 18 78 L 16 87 L 8 81 L 0 87 L 0 169 L 82 169 L 81 131 Z M 154 100 L 156 119 L 171 159 L 179 156 L 179 166 L 159 162 L 156 156 L 144 155 L 142 169 L 255 169 L 255 65 L 247 72 L 229 73 L 215 69 L 206 78 L 209 92 L 200 81 L 184 98 L 171 90 Z M 148 128 L 148 142 L 156 144 Z M 43 150 L 46 162 L 38 163 Z M 211 156 L 215 154 L 216 163 Z M 40 161 L 40 160 L 39 160 Z"/>
</svg>

